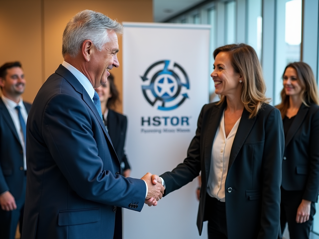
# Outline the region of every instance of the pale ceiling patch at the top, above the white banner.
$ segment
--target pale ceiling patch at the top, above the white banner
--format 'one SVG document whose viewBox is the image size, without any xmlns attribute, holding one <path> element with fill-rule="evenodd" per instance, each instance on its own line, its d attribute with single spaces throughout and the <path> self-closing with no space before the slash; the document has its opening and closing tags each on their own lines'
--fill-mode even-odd
<svg viewBox="0 0 319 239">
<path fill-rule="evenodd" d="M 203 0 L 153 0 L 154 22 L 163 22 L 201 2 Z"/>
</svg>

